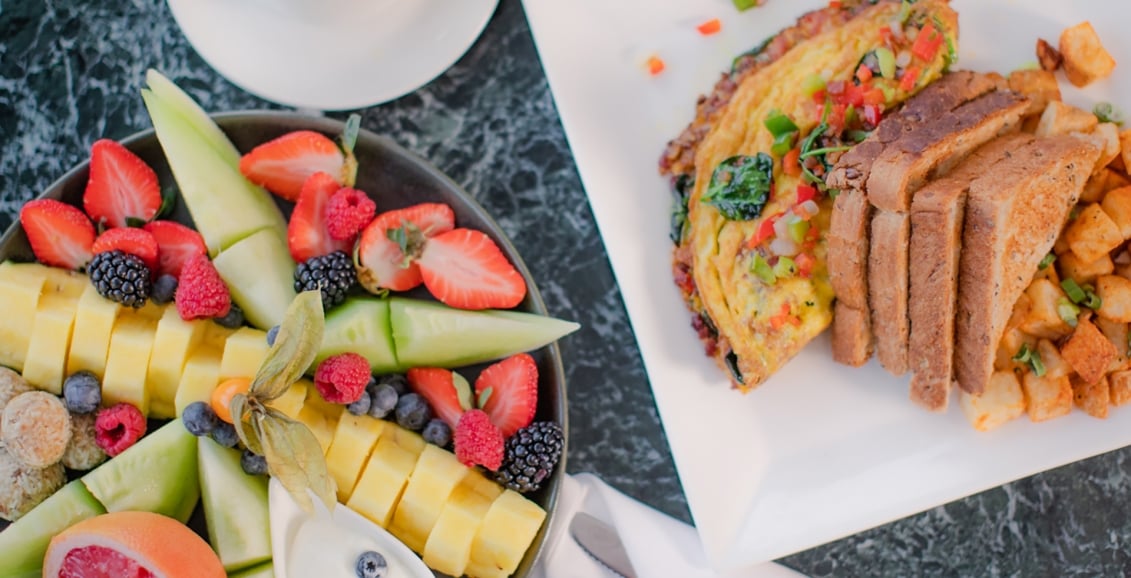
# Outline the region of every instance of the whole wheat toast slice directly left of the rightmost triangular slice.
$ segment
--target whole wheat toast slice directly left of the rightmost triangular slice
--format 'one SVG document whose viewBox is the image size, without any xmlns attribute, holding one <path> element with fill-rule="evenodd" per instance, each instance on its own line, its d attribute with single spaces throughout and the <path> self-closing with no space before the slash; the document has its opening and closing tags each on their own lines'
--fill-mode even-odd
<svg viewBox="0 0 1131 578">
<path fill-rule="evenodd" d="M 921 407 L 944 412 L 950 399 L 966 192 L 974 179 L 1035 139 L 1013 133 L 991 140 L 912 200 L 907 362 L 910 399 Z"/>
</svg>

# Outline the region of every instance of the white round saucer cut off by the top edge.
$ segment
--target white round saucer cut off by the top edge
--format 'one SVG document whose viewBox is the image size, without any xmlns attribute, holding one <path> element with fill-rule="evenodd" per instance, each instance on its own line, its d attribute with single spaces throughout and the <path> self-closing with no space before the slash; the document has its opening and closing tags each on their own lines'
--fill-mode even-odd
<svg viewBox="0 0 1131 578">
<path fill-rule="evenodd" d="M 169 7 L 201 58 L 244 90 L 299 109 L 348 110 L 403 96 L 447 70 L 498 1 L 169 0 Z"/>
</svg>

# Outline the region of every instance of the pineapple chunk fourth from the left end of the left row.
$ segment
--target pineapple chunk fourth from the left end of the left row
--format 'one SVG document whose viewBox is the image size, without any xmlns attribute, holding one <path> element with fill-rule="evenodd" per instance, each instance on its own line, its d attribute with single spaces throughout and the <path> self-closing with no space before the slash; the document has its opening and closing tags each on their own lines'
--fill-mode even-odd
<svg viewBox="0 0 1131 578">
<path fill-rule="evenodd" d="M 127 403 L 149 415 L 149 389 L 146 373 L 156 323 L 146 317 L 123 311 L 110 336 L 106 374 L 102 378 L 102 400 L 105 405 Z"/>
</svg>

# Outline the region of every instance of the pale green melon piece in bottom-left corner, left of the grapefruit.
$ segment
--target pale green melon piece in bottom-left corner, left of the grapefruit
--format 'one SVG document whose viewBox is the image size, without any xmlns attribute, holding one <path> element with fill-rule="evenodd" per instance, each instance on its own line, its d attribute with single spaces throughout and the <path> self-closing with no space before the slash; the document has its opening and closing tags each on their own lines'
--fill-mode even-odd
<svg viewBox="0 0 1131 578">
<path fill-rule="evenodd" d="M 0 576 L 38 578 L 51 537 L 106 509 L 78 480 L 0 532 Z"/>
</svg>

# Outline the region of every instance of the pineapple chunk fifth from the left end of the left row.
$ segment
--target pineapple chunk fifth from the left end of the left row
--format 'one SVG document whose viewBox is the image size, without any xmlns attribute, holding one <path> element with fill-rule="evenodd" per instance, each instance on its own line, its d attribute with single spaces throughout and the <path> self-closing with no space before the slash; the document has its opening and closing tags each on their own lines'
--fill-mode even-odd
<svg viewBox="0 0 1131 578">
<path fill-rule="evenodd" d="M 204 339 L 206 321 L 185 321 L 175 307 L 157 321 L 149 356 L 149 409 L 154 417 L 176 417 L 174 402 L 189 352 Z"/>
</svg>

